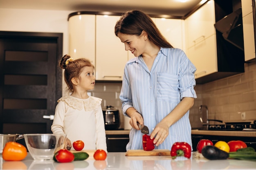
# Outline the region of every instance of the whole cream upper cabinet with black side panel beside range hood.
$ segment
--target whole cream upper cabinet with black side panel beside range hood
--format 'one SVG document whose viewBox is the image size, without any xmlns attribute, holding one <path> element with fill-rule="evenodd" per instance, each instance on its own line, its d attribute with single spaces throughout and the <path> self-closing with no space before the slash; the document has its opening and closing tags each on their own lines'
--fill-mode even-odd
<svg viewBox="0 0 256 170">
<path fill-rule="evenodd" d="M 197 68 L 197 84 L 244 72 L 243 50 L 226 41 L 214 27 L 232 12 L 231 6 L 230 1 L 225 6 L 220 0 L 209 0 L 185 20 L 186 53 Z"/>
</svg>

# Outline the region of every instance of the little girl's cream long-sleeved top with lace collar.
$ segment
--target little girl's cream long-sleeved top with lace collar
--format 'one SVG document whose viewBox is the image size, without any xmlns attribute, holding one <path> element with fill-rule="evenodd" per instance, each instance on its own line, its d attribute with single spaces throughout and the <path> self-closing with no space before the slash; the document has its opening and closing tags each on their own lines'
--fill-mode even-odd
<svg viewBox="0 0 256 170">
<path fill-rule="evenodd" d="M 71 144 L 82 140 L 85 144 L 83 150 L 107 151 L 101 100 L 93 96 L 87 99 L 63 96 L 55 109 L 52 132 L 65 133 Z"/>
</svg>

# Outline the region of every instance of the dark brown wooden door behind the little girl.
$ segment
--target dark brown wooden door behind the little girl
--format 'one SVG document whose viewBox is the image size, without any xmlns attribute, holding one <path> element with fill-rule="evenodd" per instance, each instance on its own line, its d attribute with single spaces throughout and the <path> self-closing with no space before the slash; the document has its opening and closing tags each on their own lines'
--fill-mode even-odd
<svg viewBox="0 0 256 170">
<path fill-rule="evenodd" d="M 62 40 L 62 33 L 0 31 L 0 133 L 52 133 Z"/>
</svg>

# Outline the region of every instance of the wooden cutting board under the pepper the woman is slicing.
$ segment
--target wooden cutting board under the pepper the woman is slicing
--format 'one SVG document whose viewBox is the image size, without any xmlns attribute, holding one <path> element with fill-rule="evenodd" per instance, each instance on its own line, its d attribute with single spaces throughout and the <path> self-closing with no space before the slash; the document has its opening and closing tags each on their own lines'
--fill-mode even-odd
<svg viewBox="0 0 256 170">
<path fill-rule="evenodd" d="M 154 149 L 150 151 L 145 150 L 128 150 L 126 156 L 170 156 L 171 150 L 167 149 Z"/>
</svg>

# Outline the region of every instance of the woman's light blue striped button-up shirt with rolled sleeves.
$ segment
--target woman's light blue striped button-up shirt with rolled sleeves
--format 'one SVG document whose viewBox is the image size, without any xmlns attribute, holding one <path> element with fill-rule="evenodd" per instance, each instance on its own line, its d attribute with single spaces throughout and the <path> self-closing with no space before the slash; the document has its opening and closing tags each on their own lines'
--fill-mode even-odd
<svg viewBox="0 0 256 170">
<path fill-rule="evenodd" d="M 195 66 L 178 48 L 161 48 L 151 70 L 141 56 L 130 59 L 124 69 L 120 93 L 122 111 L 125 116 L 129 107 L 141 113 L 149 134 L 166 117 L 183 97 L 197 98 L 195 86 Z M 130 141 L 126 150 L 143 149 L 142 133 L 130 131 Z M 191 142 L 189 111 L 169 128 L 169 135 L 155 149 L 171 150 L 175 142 Z"/>
</svg>

